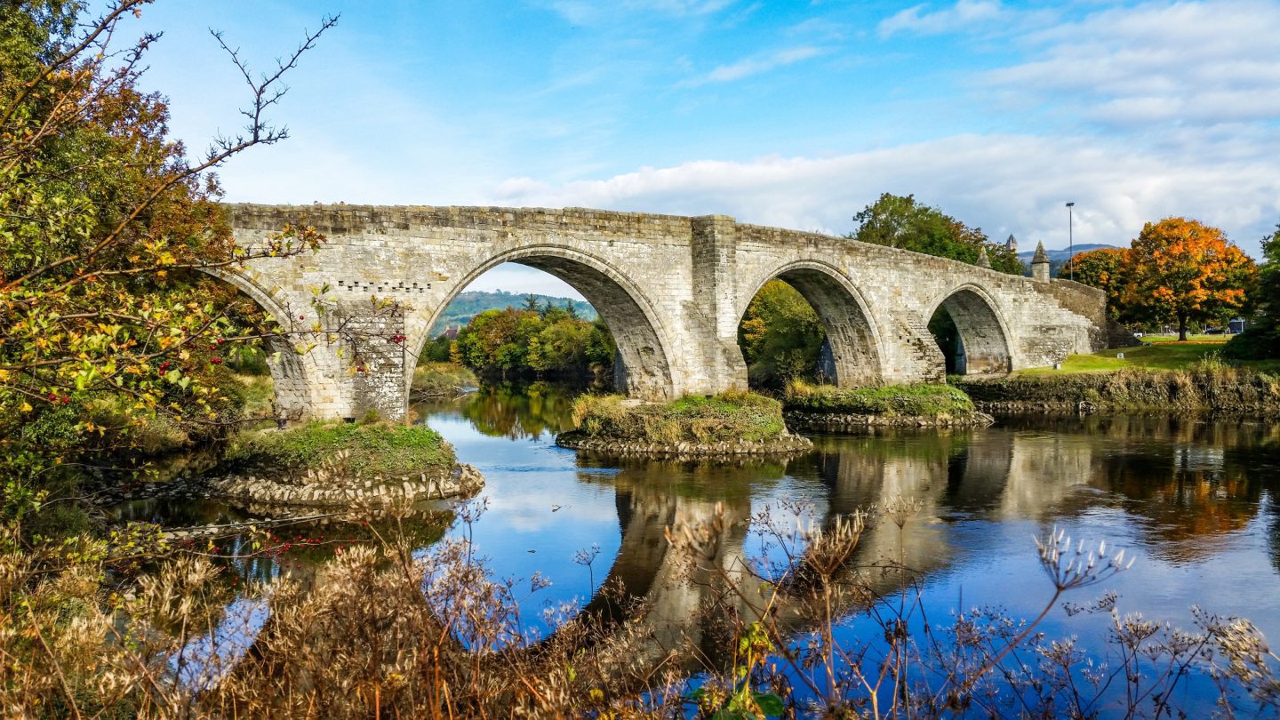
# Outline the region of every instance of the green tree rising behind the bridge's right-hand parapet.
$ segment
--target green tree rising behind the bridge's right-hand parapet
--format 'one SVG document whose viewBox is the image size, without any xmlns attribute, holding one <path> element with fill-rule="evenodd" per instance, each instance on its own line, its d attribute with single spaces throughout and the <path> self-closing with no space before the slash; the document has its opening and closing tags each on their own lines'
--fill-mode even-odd
<svg viewBox="0 0 1280 720">
<path fill-rule="evenodd" d="M 858 229 L 849 234 L 860 242 L 901 247 L 913 252 L 977 263 L 983 249 L 995 270 L 1021 275 L 1025 270 L 1018 255 L 1002 243 L 988 242 L 982 228 L 970 228 L 914 195 L 886 192 L 856 215 Z"/>
</svg>

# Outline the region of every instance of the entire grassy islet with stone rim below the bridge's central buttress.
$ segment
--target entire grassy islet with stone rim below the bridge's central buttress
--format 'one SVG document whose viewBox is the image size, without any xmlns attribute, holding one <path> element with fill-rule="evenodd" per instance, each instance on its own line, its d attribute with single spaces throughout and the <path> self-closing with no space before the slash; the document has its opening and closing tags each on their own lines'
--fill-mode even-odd
<svg viewBox="0 0 1280 720">
<path fill-rule="evenodd" d="M 777 456 L 813 446 L 787 430 L 781 402 L 740 391 L 667 404 L 585 395 L 573 402 L 573 423 L 557 445 L 609 455 Z"/>
</svg>

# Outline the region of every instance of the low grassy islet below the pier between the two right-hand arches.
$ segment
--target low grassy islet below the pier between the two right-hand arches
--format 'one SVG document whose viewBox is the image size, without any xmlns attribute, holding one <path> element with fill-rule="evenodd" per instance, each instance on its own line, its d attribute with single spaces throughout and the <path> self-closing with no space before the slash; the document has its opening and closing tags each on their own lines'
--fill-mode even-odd
<svg viewBox="0 0 1280 720">
<path fill-rule="evenodd" d="M 792 382 L 783 400 L 792 428 L 858 430 L 870 427 L 989 425 L 964 391 L 942 384 L 837 388 Z"/>
</svg>

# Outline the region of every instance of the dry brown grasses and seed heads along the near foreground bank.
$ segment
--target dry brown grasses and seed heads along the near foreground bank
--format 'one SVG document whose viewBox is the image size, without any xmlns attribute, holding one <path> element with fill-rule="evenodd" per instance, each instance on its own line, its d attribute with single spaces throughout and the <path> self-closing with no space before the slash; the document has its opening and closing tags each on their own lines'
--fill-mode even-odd
<svg viewBox="0 0 1280 720">
<path fill-rule="evenodd" d="M 1064 597 L 1132 561 L 1059 532 L 1037 539 L 1044 610 L 922 618 L 905 551 L 859 566 L 864 528 L 916 521 L 919 503 L 795 529 L 758 520 L 781 551 L 751 562 L 727 544 L 721 511 L 667 530 L 699 588 L 696 632 L 652 624 L 653 606 L 609 588 L 621 618 L 545 611 L 520 600 L 545 583 L 495 580 L 465 539 L 419 552 L 393 523 L 337 556 L 307 589 L 275 578 L 236 589 L 209 557 L 147 538 L 23 548 L 0 534 L 0 711 L 12 717 L 1165 717 L 1210 678 L 1224 714 L 1280 710 L 1277 659 L 1248 621 L 1197 612 L 1172 629 L 1121 615 L 1114 596 L 1076 612 L 1110 616 L 1107 648 L 1042 637 Z M 474 510 L 463 509 L 466 521 Z M 132 544 L 132 550 L 125 550 Z M 141 543 L 141 544 L 138 544 Z M 104 569 L 142 546 L 155 573 Z M 879 593 L 873 579 L 899 578 Z M 1019 578 L 1018 582 L 1032 582 Z M 239 594 L 239 600 L 234 600 Z M 684 596 L 681 596 L 684 597 Z M 841 639 L 841 626 L 861 626 Z M 1100 652 L 1108 650 L 1110 652 Z M 1102 664 L 1093 657 L 1107 657 Z M 1199 691 L 1198 691 L 1199 692 Z M 1213 697 L 1208 700 L 1213 700 Z"/>
</svg>

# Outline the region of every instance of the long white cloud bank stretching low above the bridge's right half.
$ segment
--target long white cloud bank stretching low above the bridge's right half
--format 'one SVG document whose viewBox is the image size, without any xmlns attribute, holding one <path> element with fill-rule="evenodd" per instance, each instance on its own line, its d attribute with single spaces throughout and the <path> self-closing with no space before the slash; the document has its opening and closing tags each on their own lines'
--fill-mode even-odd
<svg viewBox="0 0 1280 720">
<path fill-rule="evenodd" d="M 1142 224 L 1188 215 L 1222 227 L 1248 252 L 1280 218 L 1280 133 L 1143 150 L 1089 136 L 956 136 L 833 158 L 698 160 L 599 181 L 515 179 L 502 205 L 588 206 L 840 233 L 881 192 L 915 196 L 991 237 L 1066 245 L 1062 204 L 1075 206 L 1075 240 L 1125 245 Z"/>
</svg>

